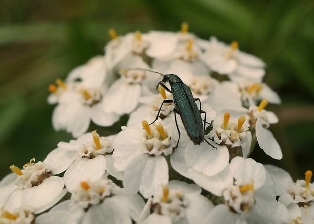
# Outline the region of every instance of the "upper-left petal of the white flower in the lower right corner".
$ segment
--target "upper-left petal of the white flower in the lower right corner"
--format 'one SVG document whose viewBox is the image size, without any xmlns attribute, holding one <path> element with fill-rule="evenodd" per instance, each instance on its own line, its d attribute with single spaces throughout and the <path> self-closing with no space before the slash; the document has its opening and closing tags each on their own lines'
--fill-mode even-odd
<svg viewBox="0 0 314 224">
<path fill-rule="evenodd" d="M 264 167 L 273 178 L 276 195 L 281 195 L 293 183 L 292 177 L 285 170 L 273 165 L 264 165 Z"/>
</svg>

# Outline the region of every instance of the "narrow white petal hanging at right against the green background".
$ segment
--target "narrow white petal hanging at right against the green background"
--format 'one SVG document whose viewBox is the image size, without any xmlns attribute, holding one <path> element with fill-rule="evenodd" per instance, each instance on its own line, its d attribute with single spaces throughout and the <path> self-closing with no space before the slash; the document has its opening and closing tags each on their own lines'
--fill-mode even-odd
<svg viewBox="0 0 314 224">
<path fill-rule="evenodd" d="M 283 154 L 278 142 L 273 137 L 272 133 L 268 129 L 264 128 L 258 120 L 256 122 L 255 130 L 257 142 L 261 149 L 263 149 L 268 156 L 274 159 L 282 159 Z"/>
</svg>

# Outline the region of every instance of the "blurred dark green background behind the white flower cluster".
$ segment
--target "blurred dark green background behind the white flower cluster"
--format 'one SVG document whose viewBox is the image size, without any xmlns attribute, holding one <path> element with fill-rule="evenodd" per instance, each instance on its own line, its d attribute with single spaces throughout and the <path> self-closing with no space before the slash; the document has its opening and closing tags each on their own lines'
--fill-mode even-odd
<svg viewBox="0 0 314 224">
<path fill-rule="evenodd" d="M 183 21 L 197 36 L 237 40 L 240 50 L 267 63 L 264 82 L 282 99 L 267 109 L 279 117 L 271 130 L 284 157 L 273 160 L 262 150 L 252 157 L 304 178 L 314 169 L 311 0 L 0 0 L 0 178 L 10 165 L 42 161 L 58 142 L 72 139 L 52 128 L 47 86 L 103 54 L 109 28 L 119 35 L 178 31 Z"/>
</svg>

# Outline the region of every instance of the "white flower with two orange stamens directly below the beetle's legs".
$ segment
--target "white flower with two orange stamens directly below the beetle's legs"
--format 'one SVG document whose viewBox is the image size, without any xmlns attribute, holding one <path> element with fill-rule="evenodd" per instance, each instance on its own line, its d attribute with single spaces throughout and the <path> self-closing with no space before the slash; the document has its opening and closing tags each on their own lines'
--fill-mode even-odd
<svg viewBox="0 0 314 224">
<path fill-rule="evenodd" d="M 156 122 L 158 123 L 158 122 Z M 157 127 L 147 122 L 140 127 L 124 128 L 113 139 L 113 162 L 118 171 L 124 171 L 123 186 L 130 194 L 138 191 L 150 197 L 160 186 L 168 183 L 168 164 L 164 156 L 176 146 L 173 132 L 161 123 Z"/>
</svg>

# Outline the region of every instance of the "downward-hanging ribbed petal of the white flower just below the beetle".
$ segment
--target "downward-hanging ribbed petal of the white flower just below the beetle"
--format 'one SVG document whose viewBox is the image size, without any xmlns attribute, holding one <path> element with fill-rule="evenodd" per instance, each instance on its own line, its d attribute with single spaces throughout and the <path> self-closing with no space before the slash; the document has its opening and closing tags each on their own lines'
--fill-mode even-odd
<svg viewBox="0 0 314 224">
<path fill-rule="evenodd" d="M 148 198 L 168 183 L 168 177 L 168 165 L 164 157 L 139 154 L 127 165 L 123 186 L 130 194 L 140 191 L 145 198 Z"/>
</svg>

